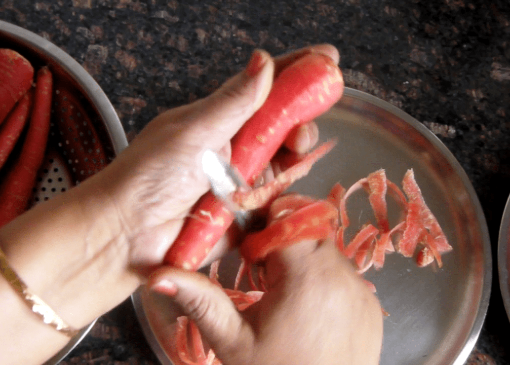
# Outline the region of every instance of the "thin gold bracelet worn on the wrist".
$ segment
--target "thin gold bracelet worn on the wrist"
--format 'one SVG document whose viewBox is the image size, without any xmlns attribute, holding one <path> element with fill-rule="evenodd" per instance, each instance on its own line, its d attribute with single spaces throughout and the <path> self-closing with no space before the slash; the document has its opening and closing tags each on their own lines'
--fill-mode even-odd
<svg viewBox="0 0 510 365">
<path fill-rule="evenodd" d="M 21 278 L 14 272 L 12 267 L 7 262 L 7 257 L 2 250 L 0 250 L 0 272 L 5 279 L 11 284 L 16 293 L 21 299 L 32 309 L 32 312 L 39 317 L 42 322 L 52 326 L 57 331 L 73 337 L 80 330 L 74 329 L 68 326 L 58 315 L 50 308 L 44 301 L 32 293 L 27 284 L 21 280 Z"/>
</svg>

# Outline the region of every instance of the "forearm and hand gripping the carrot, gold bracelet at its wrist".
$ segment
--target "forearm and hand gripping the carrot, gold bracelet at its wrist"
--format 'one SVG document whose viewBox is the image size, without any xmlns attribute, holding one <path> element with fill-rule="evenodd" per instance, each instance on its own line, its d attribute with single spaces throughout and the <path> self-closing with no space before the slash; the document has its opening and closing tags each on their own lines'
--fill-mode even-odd
<svg viewBox="0 0 510 365">
<path fill-rule="evenodd" d="M 338 62 L 334 47 L 313 48 Z M 143 280 L 134 269 L 161 264 L 189 209 L 209 189 L 197 161 L 202 150 L 228 157 L 230 138 L 265 101 L 273 75 L 308 52 L 273 60 L 256 51 L 246 70 L 208 98 L 150 121 L 103 171 L 3 226 L 0 246 L 10 265 L 74 328 L 121 303 Z M 286 145 L 308 150 L 317 134 L 309 124 Z M 10 328 L 0 336 L 0 363 L 41 363 L 67 343 L 1 278 L 0 298 L 0 321 Z"/>
</svg>

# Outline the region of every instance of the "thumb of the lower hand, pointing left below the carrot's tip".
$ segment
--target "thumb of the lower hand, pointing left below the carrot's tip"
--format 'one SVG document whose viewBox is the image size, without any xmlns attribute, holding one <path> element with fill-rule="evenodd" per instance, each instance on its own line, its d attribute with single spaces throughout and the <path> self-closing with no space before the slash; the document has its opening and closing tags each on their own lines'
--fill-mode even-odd
<svg viewBox="0 0 510 365">
<path fill-rule="evenodd" d="M 254 335 L 221 287 L 203 274 L 168 266 L 153 273 L 147 285 L 173 297 L 224 363 L 244 363 Z"/>
</svg>

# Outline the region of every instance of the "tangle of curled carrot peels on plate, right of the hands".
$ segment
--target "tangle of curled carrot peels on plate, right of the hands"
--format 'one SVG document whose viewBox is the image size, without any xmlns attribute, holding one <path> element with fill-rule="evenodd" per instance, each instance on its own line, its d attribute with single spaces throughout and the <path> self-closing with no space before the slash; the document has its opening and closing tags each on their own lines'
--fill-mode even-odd
<svg viewBox="0 0 510 365">
<path fill-rule="evenodd" d="M 397 251 L 404 257 L 413 257 L 416 253 L 418 266 L 427 266 L 436 260 L 442 266 L 441 255 L 452 250 L 436 217 L 425 203 L 423 194 L 416 182 L 412 169 L 402 180 L 405 193 L 396 184 L 387 179 L 384 169 L 368 175 L 354 183 L 349 189 L 340 189 L 340 228 L 337 234 L 337 246 L 345 256 L 354 259 L 360 273 L 373 265 L 381 269 L 385 254 Z M 349 227 L 347 199 L 359 189 L 368 193 L 368 200 L 375 215 L 376 224 L 365 224 L 344 246 L 344 232 Z M 401 218 L 390 229 L 386 195 L 389 194 L 401 208 Z M 407 197 L 407 198 L 406 198 Z"/>
</svg>

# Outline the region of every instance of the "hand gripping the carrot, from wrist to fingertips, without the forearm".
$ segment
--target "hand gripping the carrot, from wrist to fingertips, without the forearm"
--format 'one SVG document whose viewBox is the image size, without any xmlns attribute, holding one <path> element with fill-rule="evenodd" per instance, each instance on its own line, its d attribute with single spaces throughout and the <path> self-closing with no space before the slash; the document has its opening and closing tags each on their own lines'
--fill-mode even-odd
<svg viewBox="0 0 510 365">
<path fill-rule="evenodd" d="M 157 116 L 100 174 L 120 216 L 132 266 L 161 263 L 190 208 L 209 189 L 199 156 L 209 148 L 228 159 L 230 139 L 265 101 L 273 74 L 312 50 L 339 60 L 329 45 L 274 60 L 257 50 L 246 70 L 208 98 Z M 317 139 L 317 127 L 309 123 L 292 131 L 285 144 L 302 153 Z"/>
</svg>

